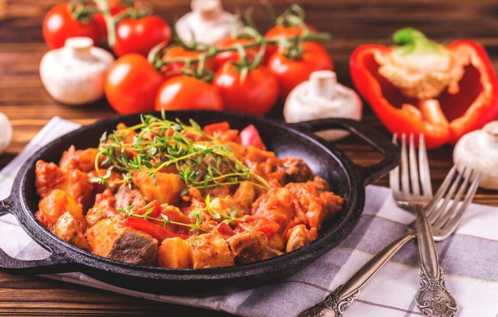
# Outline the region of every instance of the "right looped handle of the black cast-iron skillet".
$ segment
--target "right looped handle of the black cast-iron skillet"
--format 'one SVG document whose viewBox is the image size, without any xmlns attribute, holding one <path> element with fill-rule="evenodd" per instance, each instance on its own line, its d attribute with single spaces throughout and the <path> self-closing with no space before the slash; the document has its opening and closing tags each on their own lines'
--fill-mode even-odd
<svg viewBox="0 0 498 317">
<path fill-rule="evenodd" d="M 357 176 L 368 185 L 376 179 L 387 174 L 399 162 L 399 149 L 378 131 L 365 126 L 365 124 L 345 118 L 324 118 L 310 121 L 292 123 L 291 126 L 307 132 L 317 132 L 328 129 L 349 130 L 367 141 L 382 155 L 382 160 L 370 166 L 355 164 L 358 169 Z"/>
</svg>

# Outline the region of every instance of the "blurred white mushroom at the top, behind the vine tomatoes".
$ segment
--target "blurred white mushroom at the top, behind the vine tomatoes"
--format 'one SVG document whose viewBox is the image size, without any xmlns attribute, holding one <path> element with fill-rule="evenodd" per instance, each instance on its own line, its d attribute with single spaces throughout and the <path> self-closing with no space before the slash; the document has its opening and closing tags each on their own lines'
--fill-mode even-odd
<svg viewBox="0 0 498 317">
<path fill-rule="evenodd" d="M 230 36 L 235 15 L 224 11 L 221 0 L 192 0 L 191 12 L 178 19 L 176 32 L 186 44 L 192 44 L 192 34 L 199 43 L 213 45 Z"/>
</svg>

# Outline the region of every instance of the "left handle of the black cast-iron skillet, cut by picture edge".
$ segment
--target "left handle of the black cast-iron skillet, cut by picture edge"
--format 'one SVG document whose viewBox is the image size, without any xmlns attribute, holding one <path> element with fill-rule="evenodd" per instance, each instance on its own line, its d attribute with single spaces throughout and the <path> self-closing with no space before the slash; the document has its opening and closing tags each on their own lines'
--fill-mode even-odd
<svg viewBox="0 0 498 317">
<path fill-rule="evenodd" d="M 14 208 L 16 207 L 9 198 L 0 201 L 0 215 L 7 213 L 15 215 Z M 11 273 L 23 274 L 51 274 L 74 271 L 74 268 L 71 269 L 71 261 L 68 261 L 63 256 L 63 253 L 55 249 L 49 249 L 38 241 L 36 242 L 43 248 L 51 251 L 52 254 L 43 260 L 24 261 L 11 257 L 0 248 L 0 269 Z"/>
</svg>

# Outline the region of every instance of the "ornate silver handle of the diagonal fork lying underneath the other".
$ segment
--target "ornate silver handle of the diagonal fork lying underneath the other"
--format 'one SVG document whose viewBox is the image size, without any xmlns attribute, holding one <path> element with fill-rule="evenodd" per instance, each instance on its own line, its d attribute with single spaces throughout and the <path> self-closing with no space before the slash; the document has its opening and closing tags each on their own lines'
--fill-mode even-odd
<svg viewBox="0 0 498 317">
<path fill-rule="evenodd" d="M 368 261 L 345 284 L 330 293 L 324 301 L 301 312 L 300 317 L 339 317 L 344 310 L 358 297 L 360 289 L 377 273 L 377 271 L 408 241 L 416 237 L 412 230 L 386 246 Z"/>
</svg>

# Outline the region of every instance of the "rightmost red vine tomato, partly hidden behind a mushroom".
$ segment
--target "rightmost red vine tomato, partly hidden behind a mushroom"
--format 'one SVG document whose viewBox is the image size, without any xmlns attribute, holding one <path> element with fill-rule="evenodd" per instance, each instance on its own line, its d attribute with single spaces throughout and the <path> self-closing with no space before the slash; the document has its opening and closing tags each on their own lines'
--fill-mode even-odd
<svg viewBox="0 0 498 317">
<path fill-rule="evenodd" d="M 319 43 L 306 42 L 299 60 L 289 59 L 275 52 L 268 60 L 268 68 L 277 77 L 280 97 L 287 98 L 290 91 L 308 80 L 311 73 L 319 70 L 334 70 L 332 58 Z"/>
</svg>

